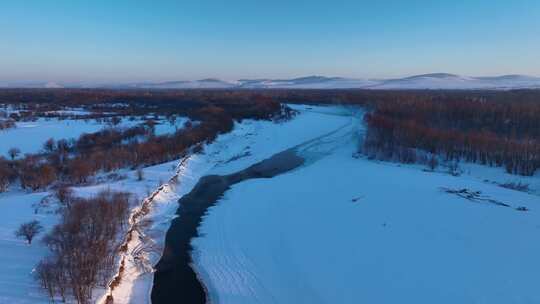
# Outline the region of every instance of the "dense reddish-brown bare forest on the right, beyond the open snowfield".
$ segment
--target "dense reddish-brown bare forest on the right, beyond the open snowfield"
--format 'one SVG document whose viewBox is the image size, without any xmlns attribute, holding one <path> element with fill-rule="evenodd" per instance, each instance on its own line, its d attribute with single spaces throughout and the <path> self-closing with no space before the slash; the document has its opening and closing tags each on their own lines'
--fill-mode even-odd
<svg viewBox="0 0 540 304">
<path fill-rule="evenodd" d="M 501 166 L 533 175 L 540 167 L 540 103 L 396 100 L 365 116 L 364 152 L 413 163 L 419 150 L 444 161 Z M 420 153 L 421 155 L 421 153 Z"/>
</svg>

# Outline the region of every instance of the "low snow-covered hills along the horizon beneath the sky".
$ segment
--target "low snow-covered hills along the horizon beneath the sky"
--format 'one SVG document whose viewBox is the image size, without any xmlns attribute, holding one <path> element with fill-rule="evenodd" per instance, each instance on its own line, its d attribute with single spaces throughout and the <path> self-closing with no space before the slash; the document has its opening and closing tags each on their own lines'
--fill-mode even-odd
<svg viewBox="0 0 540 304">
<path fill-rule="evenodd" d="M 1 87 L 33 88 L 119 88 L 119 89 L 372 89 L 372 90 L 510 90 L 540 89 L 540 77 L 503 75 L 468 77 L 448 73 L 415 75 L 394 79 L 357 79 L 309 76 L 293 79 L 240 79 L 224 81 L 208 78 L 126 84 L 0 83 Z"/>
</svg>

